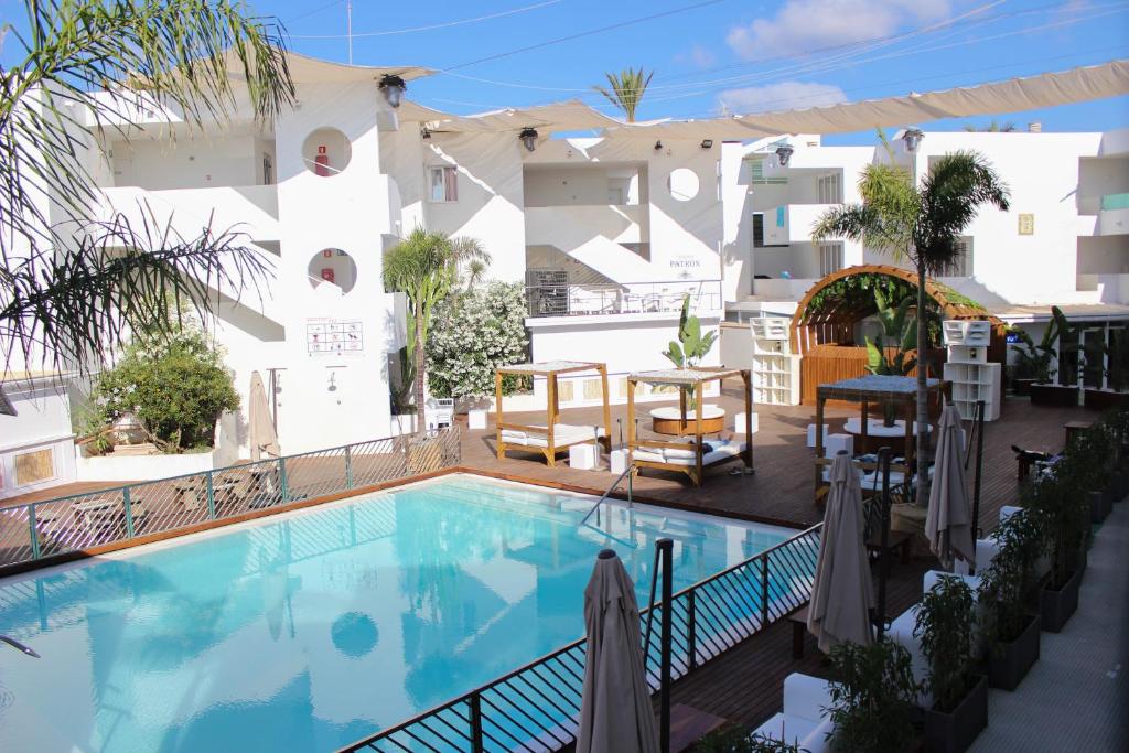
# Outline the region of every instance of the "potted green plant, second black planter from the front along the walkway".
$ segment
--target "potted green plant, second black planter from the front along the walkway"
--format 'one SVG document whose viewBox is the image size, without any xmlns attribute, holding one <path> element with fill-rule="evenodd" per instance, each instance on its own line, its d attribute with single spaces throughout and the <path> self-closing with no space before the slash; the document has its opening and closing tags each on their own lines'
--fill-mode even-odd
<svg viewBox="0 0 1129 753">
<path fill-rule="evenodd" d="M 1043 551 L 1039 516 L 1009 516 L 996 528 L 999 550 L 980 571 L 981 631 L 988 641 L 988 684 L 1015 690 L 1039 659 L 1039 615 L 1027 608 L 1030 577 Z"/>
</svg>

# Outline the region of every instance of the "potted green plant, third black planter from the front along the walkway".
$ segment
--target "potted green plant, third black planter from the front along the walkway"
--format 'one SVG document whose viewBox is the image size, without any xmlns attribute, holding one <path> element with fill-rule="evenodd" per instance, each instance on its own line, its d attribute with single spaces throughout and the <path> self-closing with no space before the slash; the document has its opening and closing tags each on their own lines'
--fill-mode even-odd
<svg viewBox="0 0 1129 753">
<path fill-rule="evenodd" d="M 1078 586 L 1085 569 L 1086 539 L 1089 533 L 1089 502 L 1078 491 L 1066 456 L 1054 472 L 1025 490 L 1026 514 L 1041 516 L 1044 545 L 1051 567 L 1039 595 L 1043 630 L 1059 632 L 1078 607 Z"/>
</svg>

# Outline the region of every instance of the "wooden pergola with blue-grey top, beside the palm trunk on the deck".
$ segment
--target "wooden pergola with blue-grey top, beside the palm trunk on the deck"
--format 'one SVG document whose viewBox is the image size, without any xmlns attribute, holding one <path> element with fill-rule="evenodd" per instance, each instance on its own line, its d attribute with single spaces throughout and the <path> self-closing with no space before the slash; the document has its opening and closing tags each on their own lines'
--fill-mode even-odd
<svg viewBox="0 0 1129 753">
<path fill-rule="evenodd" d="M 930 400 L 938 403 L 948 393 L 951 383 L 940 379 L 927 379 L 926 389 Z M 861 404 L 860 439 L 865 445 L 869 426 L 869 409 L 872 403 L 893 404 L 904 410 L 905 447 L 904 464 L 891 465 L 892 471 L 902 473 L 909 480 L 909 470 L 913 466 L 914 432 L 913 419 L 917 411 L 917 377 L 878 376 L 869 374 L 852 379 L 842 379 L 832 384 L 821 384 L 816 388 L 815 399 L 815 499 L 821 500 L 826 493 L 823 481 L 824 466 L 831 465 L 832 458 L 824 457 L 823 410 L 829 400 L 841 400 Z M 876 471 L 877 463 L 859 463 L 864 471 Z"/>
</svg>

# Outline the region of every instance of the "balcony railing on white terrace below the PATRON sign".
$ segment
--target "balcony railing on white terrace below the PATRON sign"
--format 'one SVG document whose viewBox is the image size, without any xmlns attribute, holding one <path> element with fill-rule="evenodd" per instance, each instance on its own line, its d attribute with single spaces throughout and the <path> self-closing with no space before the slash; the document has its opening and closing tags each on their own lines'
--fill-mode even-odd
<svg viewBox="0 0 1129 753">
<path fill-rule="evenodd" d="M 690 296 L 692 310 L 723 308 L 720 280 L 623 282 L 611 284 L 539 284 L 525 289 L 530 316 L 602 316 L 682 310 Z"/>
</svg>

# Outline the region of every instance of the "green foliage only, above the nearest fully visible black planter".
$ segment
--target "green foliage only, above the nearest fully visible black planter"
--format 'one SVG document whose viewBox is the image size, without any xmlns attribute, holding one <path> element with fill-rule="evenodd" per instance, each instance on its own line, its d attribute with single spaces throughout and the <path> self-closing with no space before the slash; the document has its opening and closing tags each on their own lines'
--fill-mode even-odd
<svg viewBox="0 0 1129 753">
<path fill-rule="evenodd" d="M 971 685 L 975 628 L 972 588 L 955 576 L 942 576 L 921 597 L 913 634 L 929 665 L 926 686 L 940 711 L 952 711 Z"/>
</svg>

